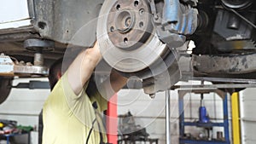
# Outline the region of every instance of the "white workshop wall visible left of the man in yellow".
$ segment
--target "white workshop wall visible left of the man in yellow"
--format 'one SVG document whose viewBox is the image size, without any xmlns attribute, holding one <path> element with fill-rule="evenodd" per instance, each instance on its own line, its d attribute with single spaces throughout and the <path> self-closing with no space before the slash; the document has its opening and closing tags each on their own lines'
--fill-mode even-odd
<svg viewBox="0 0 256 144">
<path fill-rule="evenodd" d="M 47 78 L 32 80 L 48 81 Z M 13 81 L 13 85 L 27 82 L 28 78 L 19 78 Z M 0 105 L 0 118 L 15 120 L 18 125 L 36 128 L 31 133 L 31 144 L 38 144 L 38 115 L 48 95 L 49 89 L 12 89 L 7 100 Z M 26 138 L 24 139 L 26 141 Z"/>
</svg>

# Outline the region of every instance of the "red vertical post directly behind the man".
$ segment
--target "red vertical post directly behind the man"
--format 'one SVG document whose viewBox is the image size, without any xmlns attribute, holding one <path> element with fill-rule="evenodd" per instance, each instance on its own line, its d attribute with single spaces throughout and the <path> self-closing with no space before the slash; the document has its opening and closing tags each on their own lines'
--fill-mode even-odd
<svg viewBox="0 0 256 144">
<path fill-rule="evenodd" d="M 118 141 L 118 114 L 117 114 L 117 94 L 108 101 L 107 110 L 107 136 L 108 142 L 117 144 Z"/>
</svg>

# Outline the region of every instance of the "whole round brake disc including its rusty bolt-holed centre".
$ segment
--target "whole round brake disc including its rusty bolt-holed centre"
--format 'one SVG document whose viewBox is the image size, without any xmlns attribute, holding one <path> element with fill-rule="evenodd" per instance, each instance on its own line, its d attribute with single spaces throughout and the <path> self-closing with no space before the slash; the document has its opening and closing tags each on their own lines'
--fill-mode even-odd
<svg viewBox="0 0 256 144">
<path fill-rule="evenodd" d="M 107 0 L 97 26 L 102 57 L 119 72 L 137 73 L 166 55 L 151 21 L 147 0 Z"/>
</svg>

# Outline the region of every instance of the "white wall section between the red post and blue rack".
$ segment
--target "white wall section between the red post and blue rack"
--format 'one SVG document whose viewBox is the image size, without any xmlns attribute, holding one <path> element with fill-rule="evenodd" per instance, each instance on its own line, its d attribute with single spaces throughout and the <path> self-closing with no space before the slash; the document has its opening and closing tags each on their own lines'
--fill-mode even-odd
<svg viewBox="0 0 256 144">
<path fill-rule="evenodd" d="M 172 100 L 177 95 L 171 95 Z M 159 138 L 159 143 L 166 143 L 166 96 L 161 92 L 154 99 L 143 93 L 143 89 L 122 89 L 118 93 L 118 114 L 128 111 L 135 117 L 137 124 L 146 128 L 150 138 Z M 172 107 L 172 141 L 177 143 L 177 101 L 171 101 Z"/>
</svg>

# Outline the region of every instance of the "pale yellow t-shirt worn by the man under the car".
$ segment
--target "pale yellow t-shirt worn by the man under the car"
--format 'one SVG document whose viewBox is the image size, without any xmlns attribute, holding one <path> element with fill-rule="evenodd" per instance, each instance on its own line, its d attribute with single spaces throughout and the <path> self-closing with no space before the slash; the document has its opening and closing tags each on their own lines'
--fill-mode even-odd
<svg viewBox="0 0 256 144">
<path fill-rule="evenodd" d="M 84 89 L 87 85 L 88 83 L 84 85 Z M 44 103 L 43 144 L 85 144 L 95 119 L 98 123 L 93 124 L 88 143 L 100 143 L 99 130 L 102 132 L 103 142 L 107 142 L 99 112 L 107 109 L 108 101 L 98 90 L 90 98 L 84 91 L 79 95 L 73 93 L 67 81 L 67 72 L 55 85 Z M 95 101 L 97 110 L 92 107 Z"/>
</svg>

